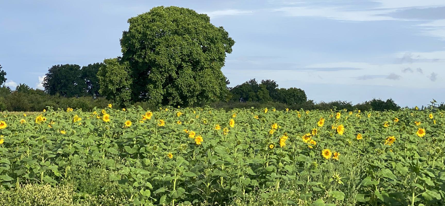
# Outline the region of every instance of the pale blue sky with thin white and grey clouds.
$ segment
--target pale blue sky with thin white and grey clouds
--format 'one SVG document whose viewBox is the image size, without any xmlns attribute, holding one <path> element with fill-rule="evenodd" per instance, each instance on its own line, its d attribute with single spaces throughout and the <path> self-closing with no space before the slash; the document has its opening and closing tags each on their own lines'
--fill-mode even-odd
<svg viewBox="0 0 445 206">
<path fill-rule="evenodd" d="M 127 20 L 161 5 L 206 13 L 229 32 L 229 86 L 272 79 L 316 102 L 445 101 L 444 0 L 0 1 L 6 85 L 42 89 L 52 65 L 121 56 Z"/>
</svg>

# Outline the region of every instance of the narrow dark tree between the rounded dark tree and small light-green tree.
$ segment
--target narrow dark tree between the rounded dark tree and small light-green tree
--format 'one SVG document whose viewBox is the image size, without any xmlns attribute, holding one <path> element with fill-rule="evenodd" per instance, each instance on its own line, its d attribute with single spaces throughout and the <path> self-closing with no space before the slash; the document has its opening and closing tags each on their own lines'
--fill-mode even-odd
<svg viewBox="0 0 445 206">
<path fill-rule="evenodd" d="M 103 66 L 103 63 L 89 64 L 88 66 L 83 66 L 81 69 L 81 78 L 85 81 L 85 92 L 88 96 L 99 97 L 99 80 L 97 79 L 97 72 L 99 68 Z"/>
</svg>

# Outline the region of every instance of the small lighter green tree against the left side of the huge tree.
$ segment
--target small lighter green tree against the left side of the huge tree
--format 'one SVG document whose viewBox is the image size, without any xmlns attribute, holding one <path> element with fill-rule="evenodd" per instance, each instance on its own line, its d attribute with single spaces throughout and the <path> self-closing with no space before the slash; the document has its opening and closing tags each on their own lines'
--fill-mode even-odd
<svg viewBox="0 0 445 206">
<path fill-rule="evenodd" d="M 116 104 L 129 105 L 132 86 L 129 72 L 128 62 L 119 63 L 119 58 L 106 59 L 97 73 L 101 85 L 99 93 Z"/>
</svg>

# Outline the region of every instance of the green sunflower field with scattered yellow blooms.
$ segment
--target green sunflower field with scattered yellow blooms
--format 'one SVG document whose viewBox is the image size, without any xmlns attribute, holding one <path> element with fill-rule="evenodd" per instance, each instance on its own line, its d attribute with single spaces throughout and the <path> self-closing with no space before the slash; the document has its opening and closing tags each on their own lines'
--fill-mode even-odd
<svg viewBox="0 0 445 206">
<path fill-rule="evenodd" d="M 4 112 L 0 205 L 445 205 L 444 122 L 415 109 Z"/>
</svg>

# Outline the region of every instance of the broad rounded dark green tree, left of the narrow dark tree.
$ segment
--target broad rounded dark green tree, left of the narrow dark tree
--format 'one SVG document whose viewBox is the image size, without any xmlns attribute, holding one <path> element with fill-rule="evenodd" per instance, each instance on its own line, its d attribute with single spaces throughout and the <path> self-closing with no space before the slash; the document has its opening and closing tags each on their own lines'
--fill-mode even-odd
<svg viewBox="0 0 445 206">
<path fill-rule="evenodd" d="M 81 67 L 66 64 L 49 68 L 43 87 L 50 95 L 60 93 L 62 97 L 80 97 L 85 95 L 86 84 L 81 78 Z"/>
</svg>

